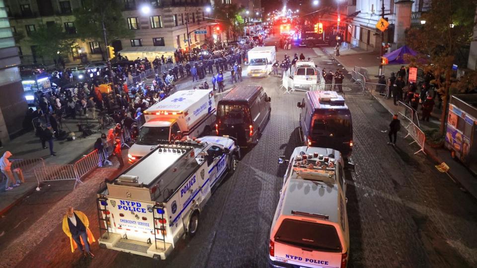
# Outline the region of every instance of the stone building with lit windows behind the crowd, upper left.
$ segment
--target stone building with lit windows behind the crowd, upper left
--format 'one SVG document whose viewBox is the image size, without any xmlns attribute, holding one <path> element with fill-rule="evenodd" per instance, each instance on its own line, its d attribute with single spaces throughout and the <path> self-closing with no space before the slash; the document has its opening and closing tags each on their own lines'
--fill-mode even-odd
<svg viewBox="0 0 477 268">
<path fill-rule="evenodd" d="M 56 22 L 64 26 L 67 33 L 75 34 L 75 8 L 80 0 L 4 0 L 5 10 L 10 19 L 11 29 L 17 36 L 23 36 L 17 42 L 18 54 L 22 63 L 45 63 L 41 55 L 35 53 L 28 35 L 39 25 Z M 231 0 L 222 0 L 231 3 Z M 213 23 L 206 22 L 206 7 L 212 6 L 209 0 L 117 0 L 123 9 L 124 23 L 134 32 L 133 39 L 109 41 L 116 52 L 131 47 L 166 47 L 188 49 L 187 30 L 190 44 L 194 48 L 213 38 Z M 149 6 L 145 13 L 143 6 Z M 207 34 L 194 34 L 194 30 L 207 30 Z M 224 34 L 223 41 L 227 38 Z M 104 44 L 92 40 L 77 40 L 72 47 L 67 62 L 100 61 L 103 59 Z"/>
</svg>

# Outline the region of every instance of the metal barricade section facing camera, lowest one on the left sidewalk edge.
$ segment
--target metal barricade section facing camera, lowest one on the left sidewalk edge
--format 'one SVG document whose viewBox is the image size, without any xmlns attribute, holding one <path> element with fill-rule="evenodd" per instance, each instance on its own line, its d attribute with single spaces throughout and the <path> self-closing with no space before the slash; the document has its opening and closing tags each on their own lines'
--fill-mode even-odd
<svg viewBox="0 0 477 268">
<path fill-rule="evenodd" d="M 75 165 L 53 165 L 37 167 L 35 168 L 35 177 L 38 182 L 38 187 L 40 187 L 40 183 L 47 181 L 75 180 L 75 188 L 78 182 L 82 183 L 79 180 Z"/>
</svg>

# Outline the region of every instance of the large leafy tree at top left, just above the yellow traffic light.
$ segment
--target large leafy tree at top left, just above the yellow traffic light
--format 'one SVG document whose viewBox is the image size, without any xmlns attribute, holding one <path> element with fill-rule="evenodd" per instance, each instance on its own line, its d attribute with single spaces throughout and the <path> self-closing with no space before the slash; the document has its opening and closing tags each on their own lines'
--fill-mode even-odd
<svg viewBox="0 0 477 268">
<path fill-rule="evenodd" d="M 104 43 L 103 25 L 109 45 L 117 39 L 134 38 L 122 15 L 121 0 L 82 0 L 82 6 L 73 10 L 78 36 L 84 40 Z M 106 51 L 106 50 L 104 50 Z"/>
</svg>

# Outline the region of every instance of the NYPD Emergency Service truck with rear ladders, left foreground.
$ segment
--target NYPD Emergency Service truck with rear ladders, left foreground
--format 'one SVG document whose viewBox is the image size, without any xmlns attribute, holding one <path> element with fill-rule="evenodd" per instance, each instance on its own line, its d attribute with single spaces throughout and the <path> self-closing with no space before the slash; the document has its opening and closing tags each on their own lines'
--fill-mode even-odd
<svg viewBox="0 0 477 268">
<path fill-rule="evenodd" d="M 165 259 L 199 216 L 240 149 L 227 137 L 160 142 L 147 156 L 100 189 L 99 246 Z"/>
</svg>

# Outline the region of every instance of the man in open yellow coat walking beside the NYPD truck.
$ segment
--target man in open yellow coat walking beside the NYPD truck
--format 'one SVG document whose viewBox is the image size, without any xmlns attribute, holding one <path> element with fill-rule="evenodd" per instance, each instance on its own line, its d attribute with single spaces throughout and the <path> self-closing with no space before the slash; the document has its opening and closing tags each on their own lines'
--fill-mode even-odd
<svg viewBox="0 0 477 268">
<path fill-rule="evenodd" d="M 89 242 L 96 240 L 88 226 L 89 220 L 83 212 L 73 210 L 72 206 L 68 207 L 63 217 L 63 232 L 70 238 L 71 252 L 75 252 L 75 249 L 79 247 L 84 256 L 94 257 L 90 251 Z"/>
</svg>

